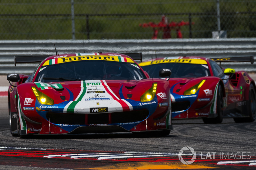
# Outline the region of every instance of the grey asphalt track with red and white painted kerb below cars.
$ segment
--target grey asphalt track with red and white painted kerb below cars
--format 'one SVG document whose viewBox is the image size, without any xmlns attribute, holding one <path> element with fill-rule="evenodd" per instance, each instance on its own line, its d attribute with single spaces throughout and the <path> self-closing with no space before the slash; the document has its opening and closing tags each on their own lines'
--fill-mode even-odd
<svg viewBox="0 0 256 170">
<path fill-rule="evenodd" d="M 0 76 L 0 86 L 8 86 L 5 78 Z M 166 137 L 100 133 L 20 139 L 9 131 L 6 96 L 0 97 L 0 108 L 0 169 L 256 169 L 256 122 L 173 120 Z M 186 146 L 181 158 L 194 161 L 190 165 L 178 157 Z"/>
</svg>

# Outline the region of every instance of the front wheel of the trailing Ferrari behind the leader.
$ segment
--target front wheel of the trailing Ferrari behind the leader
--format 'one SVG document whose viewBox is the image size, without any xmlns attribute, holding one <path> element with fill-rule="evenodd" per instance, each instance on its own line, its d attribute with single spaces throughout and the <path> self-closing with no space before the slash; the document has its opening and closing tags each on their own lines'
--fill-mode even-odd
<svg viewBox="0 0 256 170">
<path fill-rule="evenodd" d="M 221 123 L 223 121 L 223 92 L 221 85 L 218 86 L 217 91 L 217 117 L 203 118 L 204 123 Z"/>
</svg>

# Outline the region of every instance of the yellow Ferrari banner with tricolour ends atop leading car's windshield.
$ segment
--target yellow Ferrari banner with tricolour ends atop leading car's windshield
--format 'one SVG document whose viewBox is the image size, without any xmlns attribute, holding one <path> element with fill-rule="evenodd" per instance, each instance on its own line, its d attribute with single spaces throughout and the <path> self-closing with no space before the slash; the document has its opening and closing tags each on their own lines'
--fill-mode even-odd
<svg viewBox="0 0 256 170">
<path fill-rule="evenodd" d="M 44 62 L 43 66 L 67 63 L 72 61 L 84 61 L 84 60 L 101 60 L 101 61 L 116 61 L 116 62 L 127 62 L 134 63 L 132 59 L 126 58 L 123 56 L 110 56 L 110 55 L 90 55 L 90 56 L 71 56 L 71 57 L 62 57 L 54 58 Z"/>
</svg>

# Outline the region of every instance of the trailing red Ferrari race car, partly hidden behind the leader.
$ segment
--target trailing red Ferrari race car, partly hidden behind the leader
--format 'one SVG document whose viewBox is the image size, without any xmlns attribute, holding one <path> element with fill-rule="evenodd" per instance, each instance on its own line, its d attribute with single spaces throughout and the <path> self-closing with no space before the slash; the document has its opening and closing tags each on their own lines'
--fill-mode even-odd
<svg viewBox="0 0 256 170">
<path fill-rule="evenodd" d="M 252 57 L 214 60 L 253 63 Z M 220 123 L 223 117 L 232 117 L 235 122 L 254 121 L 255 82 L 245 71 L 223 69 L 215 61 L 197 56 L 167 57 L 145 61 L 140 66 L 153 78 L 159 78 L 161 68 L 172 71 L 172 118 L 201 117 L 204 123 Z"/>
</svg>

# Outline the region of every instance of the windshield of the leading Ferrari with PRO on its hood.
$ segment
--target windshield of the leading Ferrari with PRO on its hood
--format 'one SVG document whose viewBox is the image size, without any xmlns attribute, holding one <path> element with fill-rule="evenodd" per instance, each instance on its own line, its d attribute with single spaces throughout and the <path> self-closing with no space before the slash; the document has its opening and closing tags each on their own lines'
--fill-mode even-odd
<svg viewBox="0 0 256 170">
<path fill-rule="evenodd" d="M 36 82 L 75 80 L 140 80 L 146 76 L 136 63 L 112 61 L 73 61 L 42 66 Z"/>
</svg>

